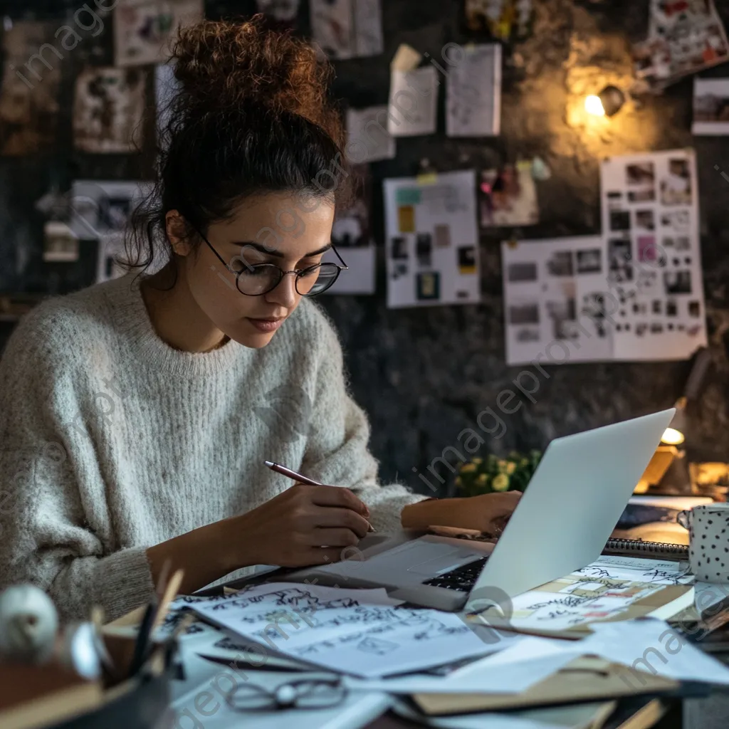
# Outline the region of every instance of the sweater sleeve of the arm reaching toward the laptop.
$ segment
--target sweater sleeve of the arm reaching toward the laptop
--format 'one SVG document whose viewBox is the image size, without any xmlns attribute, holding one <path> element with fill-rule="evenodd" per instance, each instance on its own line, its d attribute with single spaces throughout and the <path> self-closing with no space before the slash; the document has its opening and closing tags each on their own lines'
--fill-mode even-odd
<svg viewBox="0 0 729 729">
<path fill-rule="evenodd" d="M 370 507 L 378 531 L 397 531 L 407 504 L 427 499 L 399 483 L 381 486 L 378 463 L 367 449 L 370 424 L 348 394 L 342 349 L 328 321 L 323 322 L 321 361 L 312 402 L 303 472 L 321 483 L 351 488 Z"/>
</svg>

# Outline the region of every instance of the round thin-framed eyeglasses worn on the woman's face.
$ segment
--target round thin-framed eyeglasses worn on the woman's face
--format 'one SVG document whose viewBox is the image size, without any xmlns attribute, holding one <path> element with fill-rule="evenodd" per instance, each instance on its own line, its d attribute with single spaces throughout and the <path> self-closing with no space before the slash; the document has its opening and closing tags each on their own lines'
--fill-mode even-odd
<svg viewBox="0 0 729 729">
<path fill-rule="evenodd" d="M 273 291 L 273 289 L 281 283 L 281 279 L 289 273 L 295 273 L 295 288 L 300 296 L 318 296 L 324 293 L 339 278 L 341 271 L 349 268 L 342 260 L 337 249 L 332 246 L 332 251 L 342 262 L 337 263 L 317 263 L 308 268 L 299 270 L 285 271 L 275 263 L 253 263 L 250 264 L 243 260 L 240 256 L 236 256 L 235 260 L 240 265 L 240 269 L 236 270 L 232 265 L 225 262 L 220 254 L 213 248 L 210 241 L 198 230 L 200 238 L 205 241 L 211 251 L 218 257 L 222 265 L 233 273 L 235 276 L 235 286 L 241 294 L 245 296 L 262 296 Z"/>
</svg>

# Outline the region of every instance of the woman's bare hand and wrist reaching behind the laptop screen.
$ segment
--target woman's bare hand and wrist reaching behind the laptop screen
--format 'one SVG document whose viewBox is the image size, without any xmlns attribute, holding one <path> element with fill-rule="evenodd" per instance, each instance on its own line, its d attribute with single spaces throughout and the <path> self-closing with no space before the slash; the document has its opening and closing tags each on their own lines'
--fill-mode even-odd
<svg viewBox="0 0 729 729">
<path fill-rule="evenodd" d="M 431 525 L 456 526 L 499 537 L 519 499 L 520 491 L 460 499 L 432 499 L 408 504 L 402 510 L 400 521 L 403 529 L 426 530 Z"/>
</svg>

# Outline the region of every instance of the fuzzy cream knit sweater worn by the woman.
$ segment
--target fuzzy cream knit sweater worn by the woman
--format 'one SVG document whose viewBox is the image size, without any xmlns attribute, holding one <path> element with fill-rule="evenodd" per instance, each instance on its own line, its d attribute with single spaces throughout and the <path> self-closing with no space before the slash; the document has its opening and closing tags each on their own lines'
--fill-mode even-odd
<svg viewBox="0 0 729 729">
<path fill-rule="evenodd" d="M 425 496 L 378 486 L 368 437 L 311 301 L 262 349 L 192 354 L 157 337 L 133 276 L 55 297 L 0 360 L 0 589 L 33 582 L 65 620 L 122 615 L 152 590 L 147 547 L 292 486 L 265 459 L 351 488 L 397 529 Z"/>
</svg>

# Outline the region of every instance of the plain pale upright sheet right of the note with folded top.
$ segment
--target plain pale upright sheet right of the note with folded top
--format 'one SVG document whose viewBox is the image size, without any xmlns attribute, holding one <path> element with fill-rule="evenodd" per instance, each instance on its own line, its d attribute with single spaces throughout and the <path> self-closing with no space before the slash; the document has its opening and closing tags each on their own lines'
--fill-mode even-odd
<svg viewBox="0 0 729 729">
<path fill-rule="evenodd" d="M 459 48 L 448 71 L 445 132 L 451 137 L 499 136 L 502 51 L 497 43 Z"/>
</svg>

